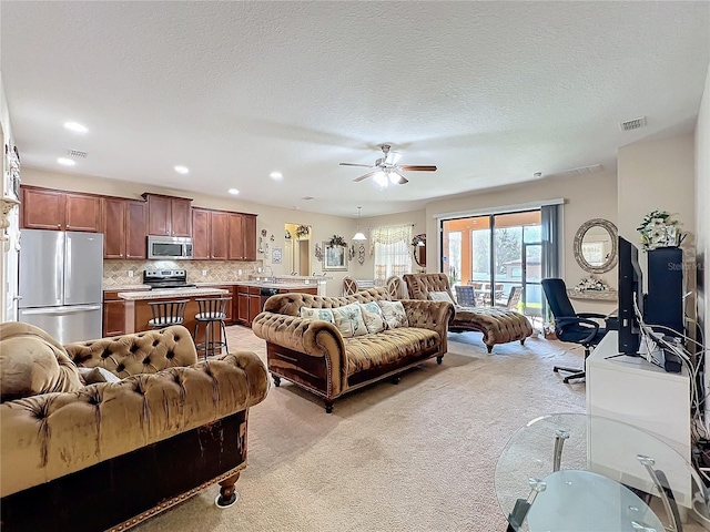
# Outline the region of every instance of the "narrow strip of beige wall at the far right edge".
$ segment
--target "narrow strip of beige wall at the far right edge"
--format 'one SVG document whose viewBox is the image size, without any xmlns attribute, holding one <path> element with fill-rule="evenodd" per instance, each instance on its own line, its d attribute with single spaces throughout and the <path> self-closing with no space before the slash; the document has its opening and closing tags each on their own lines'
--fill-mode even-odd
<svg viewBox="0 0 710 532">
<path fill-rule="evenodd" d="M 708 69 L 706 90 L 696 125 L 694 171 L 698 319 L 702 324 L 707 346 L 710 338 L 708 316 L 708 308 L 710 308 L 710 273 L 708 272 L 708 253 L 710 252 L 710 215 L 708 213 L 710 209 L 710 69 Z M 706 371 L 706 390 L 708 389 L 710 389 L 710 374 Z"/>
</svg>

